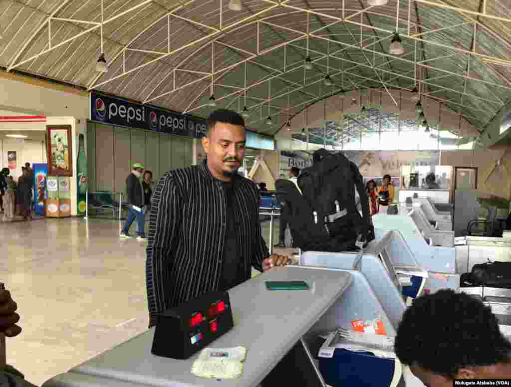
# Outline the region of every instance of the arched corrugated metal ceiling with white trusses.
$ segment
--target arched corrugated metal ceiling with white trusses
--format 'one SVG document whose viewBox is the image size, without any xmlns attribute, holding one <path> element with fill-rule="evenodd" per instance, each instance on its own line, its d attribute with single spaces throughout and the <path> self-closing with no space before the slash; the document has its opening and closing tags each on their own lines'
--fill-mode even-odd
<svg viewBox="0 0 511 387">
<path fill-rule="evenodd" d="M 267 134 L 341 88 L 391 96 L 416 83 L 480 129 L 511 98 L 506 0 L 242 4 L 235 12 L 228 0 L 3 0 L 0 65 L 198 116 L 212 109 L 213 83 L 218 107 L 241 110 L 246 98 L 248 126 Z M 388 54 L 396 29 L 399 57 Z M 105 74 L 95 69 L 102 42 Z"/>
</svg>

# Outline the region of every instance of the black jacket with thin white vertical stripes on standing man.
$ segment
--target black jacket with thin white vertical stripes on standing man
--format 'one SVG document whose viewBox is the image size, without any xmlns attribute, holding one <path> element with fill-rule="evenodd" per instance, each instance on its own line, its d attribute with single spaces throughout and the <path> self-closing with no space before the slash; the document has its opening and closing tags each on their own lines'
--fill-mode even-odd
<svg viewBox="0 0 511 387">
<path fill-rule="evenodd" d="M 233 178 L 237 245 L 246 279 L 263 271 L 269 256 L 259 224 L 259 192 L 252 181 Z M 146 279 L 149 327 L 156 314 L 216 291 L 227 228 L 222 184 L 203 160 L 165 174 L 153 192 Z"/>
</svg>

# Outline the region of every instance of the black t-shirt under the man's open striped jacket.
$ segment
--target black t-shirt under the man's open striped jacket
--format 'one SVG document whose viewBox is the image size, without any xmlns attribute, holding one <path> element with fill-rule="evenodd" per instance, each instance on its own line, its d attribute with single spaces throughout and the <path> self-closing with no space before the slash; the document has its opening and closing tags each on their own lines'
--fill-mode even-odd
<svg viewBox="0 0 511 387">
<path fill-rule="evenodd" d="M 240 270 L 241 259 L 238 253 L 237 230 L 234 221 L 233 184 L 222 182 L 222 185 L 227 203 L 227 229 L 225 231 L 225 248 L 219 288 L 222 291 L 226 291 L 240 284 L 246 278 L 244 278 Z"/>
</svg>

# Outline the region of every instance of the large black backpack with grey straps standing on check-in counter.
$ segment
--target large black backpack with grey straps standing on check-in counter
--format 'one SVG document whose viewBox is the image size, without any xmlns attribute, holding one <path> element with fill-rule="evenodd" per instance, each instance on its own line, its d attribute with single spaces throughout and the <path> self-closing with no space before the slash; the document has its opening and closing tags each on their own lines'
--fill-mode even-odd
<svg viewBox="0 0 511 387">
<path fill-rule="evenodd" d="M 375 236 L 357 165 L 342 153 L 324 149 L 313 158 L 314 165 L 298 177 L 301 193 L 289 180 L 275 182 L 278 191 L 286 192 L 277 198 L 288 206 L 294 246 L 303 251 L 340 252 L 357 250 L 357 240 L 367 245 Z"/>
</svg>

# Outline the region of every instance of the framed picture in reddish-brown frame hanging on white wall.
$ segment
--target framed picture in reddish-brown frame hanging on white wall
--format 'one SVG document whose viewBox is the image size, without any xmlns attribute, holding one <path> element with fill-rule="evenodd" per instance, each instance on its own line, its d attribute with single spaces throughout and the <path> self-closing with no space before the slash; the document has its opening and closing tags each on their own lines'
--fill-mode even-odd
<svg viewBox="0 0 511 387">
<path fill-rule="evenodd" d="M 47 126 L 48 175 L 73 176 L 71 125 Z"/>
</svg>

